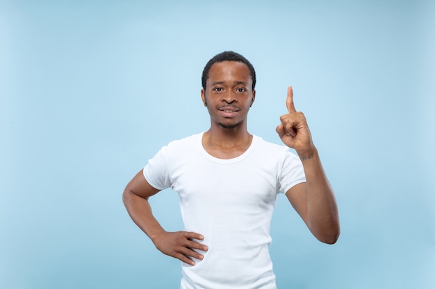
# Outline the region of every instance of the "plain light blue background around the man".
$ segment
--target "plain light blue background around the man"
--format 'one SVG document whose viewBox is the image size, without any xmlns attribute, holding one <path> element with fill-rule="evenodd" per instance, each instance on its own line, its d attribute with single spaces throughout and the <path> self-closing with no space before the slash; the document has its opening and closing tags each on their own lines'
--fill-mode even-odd
<svg viewBox="0 0 435 289">
<path fill-rule="evenodd" d="M 121 195 L 161 146 L 208 129 L 200 77 L 224 50 L 257 71 L 249 132 L 280 143 L 293 85 L 340 209 L 325 245 L 279 196 L 279 288 L 434 288 L 434 15 L 434 1 L 0 1 L 0 288 L 179 286 Z M 176 193 L 151 203 L 182 229 Z"/>
</svg>

